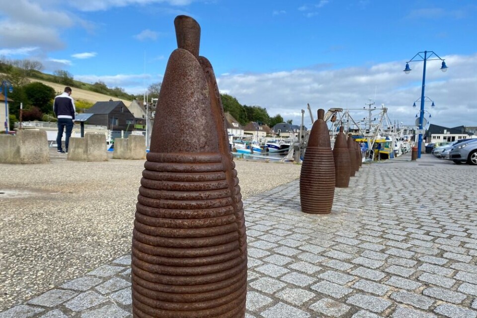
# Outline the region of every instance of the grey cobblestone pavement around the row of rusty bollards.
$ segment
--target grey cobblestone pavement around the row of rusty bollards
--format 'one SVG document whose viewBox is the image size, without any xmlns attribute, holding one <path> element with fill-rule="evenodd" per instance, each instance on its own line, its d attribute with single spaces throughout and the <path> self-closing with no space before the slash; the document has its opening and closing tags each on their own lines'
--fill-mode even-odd
<svg viewBox="0 0 477 318">
<path fill-rule="evenodd" d="M 298 180 L 244 200 L 246 318 L 476 318 L 477 167 L 423 155 L 364 164 L 332 213 Z M 0 318 L 131 317 L 130 255 Z"/>
</svg>

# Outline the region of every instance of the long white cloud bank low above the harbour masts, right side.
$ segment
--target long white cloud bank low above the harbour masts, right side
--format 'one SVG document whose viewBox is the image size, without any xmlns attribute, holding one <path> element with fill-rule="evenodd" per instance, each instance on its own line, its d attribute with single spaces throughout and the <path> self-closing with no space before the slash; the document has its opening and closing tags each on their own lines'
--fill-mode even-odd
<svg viewBox="0 0 477 318">
<path fill-rule="evenodd" d="M 448 72 L 439 71 L 439 61 L 428 62 L 426 68 L 425 96 L 436 104 L 435 108 L 426 104 L 432 114 L 430 122 L 448 127 L 475 126 L 477 95 L 470 87 L 477 87 L 473 74 L 477 54 L 442 58 L 446 59 Z M 402 72 L 404 65 L 400 61 L 340 70 L 229 74 L 220 76 L 218 85 L 221 92 L 237 97 L 241 104 L 265 107 L 269 115 L 279 113 L 294 123 L 301 121 L 301 109 L 306 109 L 307 103 L 316 117 L 318 108 L 363 108 L 372 98 L 376 105 L 388 107 L 392 120 L 411 125 L 416 114 L 412 103 L 421 95 L 422 63 L 415 63 L 409 75 Z M 356 112 L 357 118 L 366 116 L 365 112 Z M 305 124 L 311 124 L 308 116 Z"/>
</svg>

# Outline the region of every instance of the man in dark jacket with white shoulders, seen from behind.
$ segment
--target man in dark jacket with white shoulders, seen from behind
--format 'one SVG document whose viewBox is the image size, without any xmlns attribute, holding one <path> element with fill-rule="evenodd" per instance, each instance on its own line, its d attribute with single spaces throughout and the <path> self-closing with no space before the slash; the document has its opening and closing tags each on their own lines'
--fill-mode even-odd
<svg viewBox="0 0 477 318">
<path fill-rule="evenodd" d="M 71 131 L 73 130 L 73 121 L 75 120 L 75 101 L 71 97 L 71 87 L 66 86 L 63 94 L 55 97 L 53 103 L 53 111 L 58 118 L 58 135 L 56 137 L 56 144 L 58 146 L 58 153 L 64 154 L 62 149 L 61 139 L 63 138 L 63 131 L 66 127 L 65 148 L 68 154 L 68 144 L 70 142 Z"/>
</svg>

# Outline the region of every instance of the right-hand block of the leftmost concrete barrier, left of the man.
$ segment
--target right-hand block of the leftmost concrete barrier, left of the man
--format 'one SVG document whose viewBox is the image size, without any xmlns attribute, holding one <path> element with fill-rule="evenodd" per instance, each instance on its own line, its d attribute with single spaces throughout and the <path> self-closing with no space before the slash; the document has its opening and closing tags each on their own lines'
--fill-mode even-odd
<svg viewBox="0 0 477 318">
<path fill-rule="evenodd" d="M 18 130 L 21 163 L 49 163 L 50 150 L 46 131 Z"/>
</svg>

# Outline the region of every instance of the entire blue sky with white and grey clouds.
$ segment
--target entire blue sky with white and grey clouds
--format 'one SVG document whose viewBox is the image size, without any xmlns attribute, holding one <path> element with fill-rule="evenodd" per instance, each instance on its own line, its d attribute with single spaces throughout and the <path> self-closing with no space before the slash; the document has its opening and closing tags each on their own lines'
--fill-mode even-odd
<svg viewBox="0 0 477 318">
<path fill-rule="evenodd" d="M 304 109 L 310 128 L 308 103 L 355 120 L 374 103 L 413 126 L 428 51 L 425 118 L 477 126 L 475 0 L 0 0 L 0 56 L 142 94 L 162 81 L 180 14 L 200 24 L 220 91 L 271 116 L 299 124 Z"/>
</svg>

